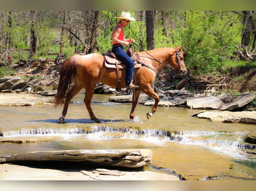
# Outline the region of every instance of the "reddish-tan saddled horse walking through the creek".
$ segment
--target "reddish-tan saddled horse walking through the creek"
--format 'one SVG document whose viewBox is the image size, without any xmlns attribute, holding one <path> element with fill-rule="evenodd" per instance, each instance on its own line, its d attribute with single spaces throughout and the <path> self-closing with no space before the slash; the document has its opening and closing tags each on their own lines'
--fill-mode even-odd
<svg viewBox="0 0 256 191">
<path fill-rule="evenodd" d="M 133 91 L 130 120 L 134 118 L 134 110 L 141 92 L 155 99 L 153 108 L 147 113 L 147 119 L 150 119 L 153 113 L 156 112 L 160 99 L 152 89 L 152 84 L 155 81 L 157 71 L 164 66 L 170 66 L 170 68 L 177 71 L 178 75 L 184 76 L 187 73 L 183 60 L 182 46 L 177 48 L 158 48 L 137 52 L 137 54 L 140 57 L 141 67 L 134 68 L 134 85 L 139 86 L 139 89 Z M 121 88 L 125 88 L 125 69 L 120 69 L 119 73 Z M 59 123 L 65 123 L 69 103 L 82 88 L 85 88 L 84 103 L 91 120 L 95 121 L 95 123 L 101 123 L 91 108 L 95 86 L 97 82 L 102 82 L 105 85 L 117 88 L 117 76 L 117 69 L 105 66 L 103 54 L 73 55 L 68 58 L 60 68 L 57 94 L 53 101 L 55 107 L 64 103 Z M 73 82 L 74 85 L 70 88 Z"/>
</svg>

